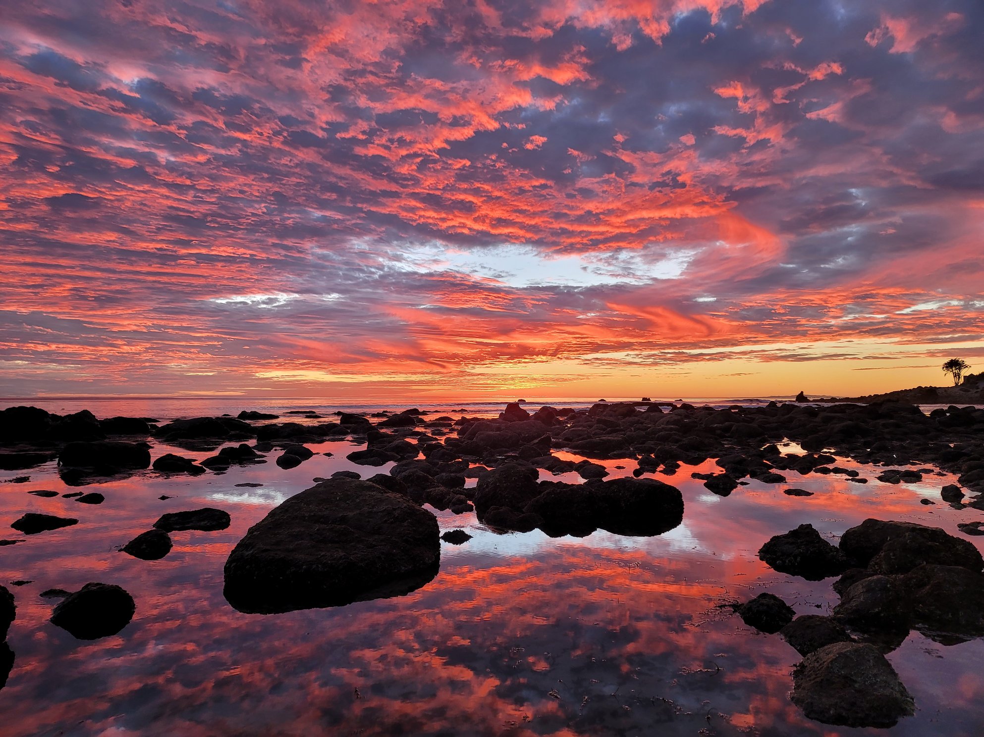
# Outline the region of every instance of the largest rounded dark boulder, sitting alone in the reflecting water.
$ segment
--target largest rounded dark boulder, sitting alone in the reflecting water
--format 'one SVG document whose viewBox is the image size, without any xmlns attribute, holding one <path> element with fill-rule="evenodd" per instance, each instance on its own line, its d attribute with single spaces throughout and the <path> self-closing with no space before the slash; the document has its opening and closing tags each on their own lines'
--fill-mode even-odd
<svg viewBox="0 0 984 737">
<path fill-rule="evenodd" d="M 437 519 L 374 483 L 332 479 L 250 528 L 225 562 L 226 599 L 269 614 L 419 589 L 437 575 Z"/>
</svg>

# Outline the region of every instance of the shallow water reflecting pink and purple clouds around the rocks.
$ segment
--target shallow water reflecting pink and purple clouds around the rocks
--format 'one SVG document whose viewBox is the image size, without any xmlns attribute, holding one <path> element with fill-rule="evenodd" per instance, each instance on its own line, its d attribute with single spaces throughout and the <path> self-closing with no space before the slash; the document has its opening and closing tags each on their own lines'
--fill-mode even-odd
<svg viewBox="0 0 984 737">
<path fill-rule="evenodd" d="M 215 404 L 201 414 L 269 406 Z M 166 412 L 160 405 L 156 412 L 88 406 L 99 417 L 182 414 L 179 405 Z M 281 400 L 278 409 L 283 406 Z M 213 454 L 154 445 L 154 457 Z M 911 634 L 889 659 L 915 697 L 915 716 L 890 730 L 830 727 L 805 718 L 789 701 L 797 653 L 717 606 L 768 590 L 799 613 L 828 611 L 837 600 L 833 579 L 806 582 L 775 573 L 756 557 L 770 536 L 804 522 L 831 540 L 867 517 L 920 522 L 964 538 L 956 524 L 984 515 L 942 502 L 949 476 L 883 484 L 874 469 L 841 461 L 870 481 L 784 472 L 788 483 L 751 482 L 722 498 L 690 478 L 712 462 L 683 466 L 672 477 L 655 475 L 678 486 L 686 505 L 683 524 L 656 538 L 496 535 L 473 514 L 438 512 L 443 529 L 474 537 L 461 546 L 442 542 L 440 573 L 422 589 L 337 608 L 241 614 L 222 596 L 222 566 L 250 525 L 314 477 L 339 470 L 368 477 L 388 468 L 346 461 L 346 453 L 361 447 L 353 443 L 309 447 L 335 455 L 316 455 L 291 470 L 278 468 L 271 454 L 270 463 L 222 475 L 143 472 L 85 487 L 105 495 L 98 506 L 28 494 L 79 490 L 58 480 L 54 464 L 0 476 L 31 476 L 25 483 L 0 481 L 0 527 L 7 531 L 0 537 L 24 539 L 0 547 L 0 583 L 18 606 L 8 638 L 16 661 L 0 691 L 0 733 L 922 737 L 984 731 L 981 641 L 944 647 Z M 635 468 L 626 460 L 601 463 L 613 476 Z M 263 485 L 235 485 L 243 482 Z M 786 496 L 788 486 L 815 494 Z M 173 498 L 159 500 L 162 494 Z M 938 503 L 924 506 L 924 497 Z M 200 506 L 227 510 L 231 527 L 173 533 L 173 550 L 158 561 L 117 551 L 160 514 Z M 80 523 L 35 536 L 7 528 L 27 511 Z M 981 539 L 971 540 L 982 547 Z M 31 583 L 10 585 L 18 580 Z M 39 596 L 90 581 L 118 584 L 137 601 L 122 632 L 92 643 L 51 625 L 56 599 Z"/>
</svg>

